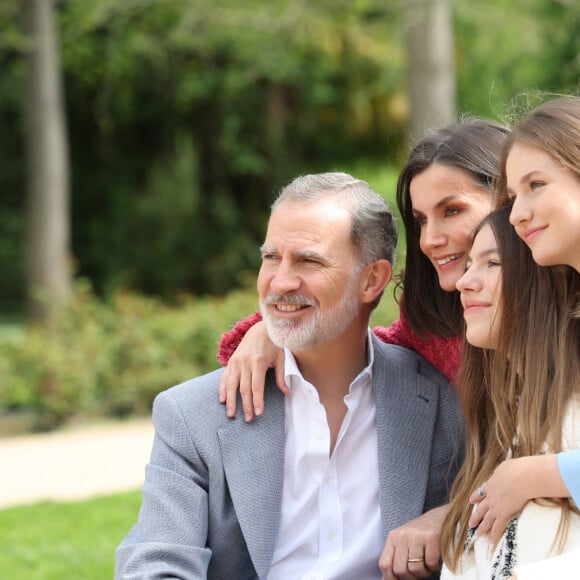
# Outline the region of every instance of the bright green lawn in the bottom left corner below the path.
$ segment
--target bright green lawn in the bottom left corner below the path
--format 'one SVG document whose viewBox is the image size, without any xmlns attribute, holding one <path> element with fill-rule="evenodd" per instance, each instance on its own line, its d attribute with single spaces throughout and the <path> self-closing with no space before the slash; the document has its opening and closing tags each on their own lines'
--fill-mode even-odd
<svg viewBox="0 0 580 580">
<path fill-rule="evenodd" d="M 0 511 L 0 578 L 108 580 L 137 519 L 139 492 Z"/>
</svg>

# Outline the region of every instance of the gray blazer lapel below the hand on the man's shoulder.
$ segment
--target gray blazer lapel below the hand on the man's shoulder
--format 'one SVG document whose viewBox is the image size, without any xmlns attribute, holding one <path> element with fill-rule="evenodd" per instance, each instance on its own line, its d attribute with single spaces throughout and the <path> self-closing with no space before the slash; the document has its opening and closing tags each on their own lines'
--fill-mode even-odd
<svg viewBox="0 0 580 580">
<path fill-rule="evenodd" d="M 266 386 L 265 408 L 252 423 L 239 413 L 218 431 L 230 495 L 259 578 L 272 562 L 282 504 L 284 396 L 273 381 Z"/>
</svg>

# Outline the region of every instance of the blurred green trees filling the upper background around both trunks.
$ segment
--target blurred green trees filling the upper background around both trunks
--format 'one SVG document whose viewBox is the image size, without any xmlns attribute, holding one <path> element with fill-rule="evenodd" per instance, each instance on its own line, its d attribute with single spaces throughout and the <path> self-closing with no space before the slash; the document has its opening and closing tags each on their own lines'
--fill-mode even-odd
<svg viewBox="0 0 580 580">
<path fill-rule="evenodd" d="M 225 294 L 291 177 L 400 165 L 403 4 L 59 0 L 77 275 L 100 296 Z M 2 314 L 24 296 L 23 6 L 0 2 Z M 578 2 L 453 6 L 460 111 L 578 90 Z"/>
</svg>

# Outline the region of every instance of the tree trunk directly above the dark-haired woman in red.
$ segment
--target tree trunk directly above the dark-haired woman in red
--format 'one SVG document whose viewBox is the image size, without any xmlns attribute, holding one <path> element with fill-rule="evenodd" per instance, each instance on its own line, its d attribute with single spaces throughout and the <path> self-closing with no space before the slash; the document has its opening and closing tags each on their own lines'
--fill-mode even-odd
<svg viewBox="0 0 580 580">
<path fill-rule="evenodd" d="M 411 143 L 455 120 L 451 0 L 407 2 Z"/>
</svg>

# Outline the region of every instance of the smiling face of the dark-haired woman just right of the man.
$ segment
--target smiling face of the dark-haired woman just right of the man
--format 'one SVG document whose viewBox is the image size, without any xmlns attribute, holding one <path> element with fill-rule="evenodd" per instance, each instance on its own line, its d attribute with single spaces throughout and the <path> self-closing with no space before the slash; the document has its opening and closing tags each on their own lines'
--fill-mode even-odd
<svg viewBox="0 0 580 580">
<path fill-rule="evenodd" d="M 409 193 L 421 251 L 437 271 L 441 288 L 453 292 L 465 270 L 471 232 L 492 210 L 491 192 L 469 173 L 433 163 L 411 180 Z"/>
</svg>

